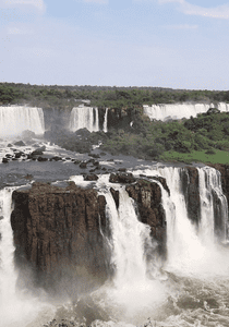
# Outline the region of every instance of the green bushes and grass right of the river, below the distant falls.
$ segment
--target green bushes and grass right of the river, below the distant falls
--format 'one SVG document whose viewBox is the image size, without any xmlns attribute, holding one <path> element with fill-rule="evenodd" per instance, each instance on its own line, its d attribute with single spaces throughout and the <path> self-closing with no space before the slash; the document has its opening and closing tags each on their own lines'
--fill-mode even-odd
<svg viewBox="0 0 229 327">
<path fill-rule="evenodd" d="M 210 109 L 181 121 L 149 121 L 138 113 L 129 130 L 111 131 L 103 148 L 165 161 L 229 164 L 229 113 Z"/>
</svg>

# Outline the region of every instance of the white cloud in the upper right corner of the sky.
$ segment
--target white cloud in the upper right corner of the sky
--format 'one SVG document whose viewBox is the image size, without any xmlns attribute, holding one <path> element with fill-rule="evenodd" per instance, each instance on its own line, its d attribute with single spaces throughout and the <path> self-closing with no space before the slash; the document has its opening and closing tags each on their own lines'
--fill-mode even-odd
<svg viewBox="0 0 229 327">
<path fill-rule="evenodd" d="M 164 3 L 178 3 L 178 9 L 188 15 L 198 15 L 210 19 L 229 19 L 229 5 L 222 4 L 214 8 L 204 8 L 201 5 L 191 4 L 185 0 L 158 0 L 160 4 Z"/>
</svg>

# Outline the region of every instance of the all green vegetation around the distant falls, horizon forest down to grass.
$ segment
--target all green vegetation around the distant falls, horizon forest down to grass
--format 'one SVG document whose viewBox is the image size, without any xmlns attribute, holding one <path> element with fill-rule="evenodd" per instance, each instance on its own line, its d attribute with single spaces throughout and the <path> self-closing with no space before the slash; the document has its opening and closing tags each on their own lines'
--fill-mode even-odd
<svg viewBox="0 0 229 327">
<path fill-rule="evenodd" d="M 229 101 L 229 92 L 186 90 L 160 87 L 38 86 L 0 83 L 0 105 L 31 105 L 71 110 L 89 100 L 91 106 L 112 109 L 117 122 L 109 133 L 94 133 L 79 142 L 74 133 L 57 131 L 55 141 L 73 150 L 88 150 L 97 140 L 111 154 L 155 160 L 228 164 L 229 113 L 213 108 L 207 113 L 181 121 L 150 121 L 143 104 L 182 101 Z M 119 119 L 121 118 L 128 118 Z M 130 119 L 133 122 L 130 126 Z M 121 126 L 121 128 L 120 128 Z M 92 140 L 91 140 L 92 138 Z"/>
</svg>

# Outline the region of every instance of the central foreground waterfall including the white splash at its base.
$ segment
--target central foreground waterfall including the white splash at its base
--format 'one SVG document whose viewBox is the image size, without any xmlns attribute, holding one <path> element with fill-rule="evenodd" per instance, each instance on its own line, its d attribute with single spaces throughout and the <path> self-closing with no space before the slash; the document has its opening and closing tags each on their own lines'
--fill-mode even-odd
<svg viewBox="0 0 229 327">
<path fill-rule="evenodd" d="M 111 228 L 109 243 L 112 247 L 113 288 L 108 298 L 125 306 L 125 315 L 133 316 L 136 311 L 153 307 L 165 300 L 164 286 L 147 276 L 146 251 L 154 247 L 150 227 L 137 219 L 134 201 L 124 187 L 118 186 L 119 208 L 110 192 L 106 197 L 106 217 Z"/>
</svg>

